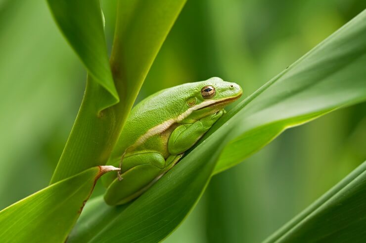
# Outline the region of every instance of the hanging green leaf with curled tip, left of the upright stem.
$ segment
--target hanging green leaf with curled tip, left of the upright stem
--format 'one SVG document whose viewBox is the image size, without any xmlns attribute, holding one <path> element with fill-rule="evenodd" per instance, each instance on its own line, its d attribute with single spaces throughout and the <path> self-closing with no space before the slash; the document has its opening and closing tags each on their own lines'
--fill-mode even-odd
<svg viewBox="0 0 366 243">
<path fill-rule="evenodd" d="M 97 111 L 119 102 L 108 62 L 99 0 L 47 0 L 53 17 L 89 75 L 108 93 L 100 96 Z"/>
</svg>

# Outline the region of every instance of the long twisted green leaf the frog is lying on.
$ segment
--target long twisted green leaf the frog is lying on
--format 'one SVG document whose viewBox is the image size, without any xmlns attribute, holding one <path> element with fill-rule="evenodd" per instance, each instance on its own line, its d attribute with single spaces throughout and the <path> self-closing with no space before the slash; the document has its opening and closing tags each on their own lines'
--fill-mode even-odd
<svg viewBox="0 0 366 243">
<path fill-rule="evenodd" d="M 109 223 L 89 226 L 92 231 L 78 224 L 70 240 L 163 240 L 194 207 L 210 179 L 217 156 L 221 154 L 216 173 L 263 147 L 284 128 L 366 100 L 365 20 L 366 11 L 230 110 L 210 130 L 211 136 L 205 136 L 136 201 L 117 209 L 108 209 L 102 200 L 98 201 L 94 207 L 106 213 L 93 218 L 92 210 L 88 210 L 81 222 Z M 247 143 L 242 143 L 244 139 Z M 232 161 L 235 163 L 230 164 Z"/>
</svg>

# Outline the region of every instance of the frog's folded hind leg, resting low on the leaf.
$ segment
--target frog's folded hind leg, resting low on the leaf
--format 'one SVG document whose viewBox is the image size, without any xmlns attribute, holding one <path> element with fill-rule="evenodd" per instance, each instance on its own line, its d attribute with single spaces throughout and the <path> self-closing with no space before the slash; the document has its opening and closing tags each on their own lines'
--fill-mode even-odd
<svg viewBox="0 0 366 243">
<path fill-rule="evenodd" d="M 109 185 L 104 200 L 109 205 L 127 203 L 146 191 L 164 173 L 165 159 L 156 152 L 133 154 L 123 158 L 122 180 Z"/>
</svg>

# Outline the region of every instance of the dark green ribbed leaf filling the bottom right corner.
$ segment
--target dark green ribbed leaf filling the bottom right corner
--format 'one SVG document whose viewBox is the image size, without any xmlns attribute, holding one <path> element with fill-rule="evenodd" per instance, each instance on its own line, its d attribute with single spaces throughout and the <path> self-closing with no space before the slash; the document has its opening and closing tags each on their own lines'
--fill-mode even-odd
<svg viewBox="0 0 366 243">
<path fill-rule="evenodd" d="M 265 242 L 365 242 L 366 162 Z"/>
</svg>

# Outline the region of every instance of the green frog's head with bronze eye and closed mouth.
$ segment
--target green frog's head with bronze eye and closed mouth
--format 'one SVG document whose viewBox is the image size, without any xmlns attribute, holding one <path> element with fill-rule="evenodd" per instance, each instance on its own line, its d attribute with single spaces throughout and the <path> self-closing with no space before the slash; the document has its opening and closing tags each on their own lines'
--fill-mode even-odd
<svg viewBox="0 0 366 243">
<path fill-rule="evenodd" d="M 236 83 L 212 77 L 205 81 L 189 83 L 186 99 L 178 117 L 179 123 L 191 123 L 208 115 L 214 114 L 242 95 L 241 87 Z"/>
</svg>

